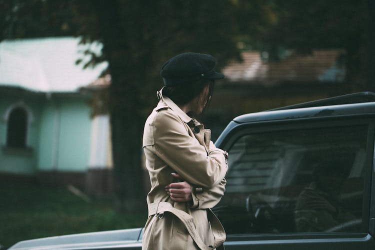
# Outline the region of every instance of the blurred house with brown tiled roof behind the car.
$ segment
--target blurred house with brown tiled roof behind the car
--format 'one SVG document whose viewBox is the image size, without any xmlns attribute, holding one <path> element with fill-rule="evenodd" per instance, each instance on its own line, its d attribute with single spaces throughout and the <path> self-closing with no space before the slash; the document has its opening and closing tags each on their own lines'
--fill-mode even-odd
<svg viewBox="0 0 375 250">
<path fill-rule="evenodd" d="M 315 49 L 310 54 L 286 50 L 278 61 L 268 61 L 264 53 L 244 51 L 241 62 L 233 61 L 223 68 L 225 78 L 218 82 L 215 94 L 220 102 L 227 99 L 236 103 L 231 113 L 325 98 L 344 90 L 343 49 Z"/>
</svg>

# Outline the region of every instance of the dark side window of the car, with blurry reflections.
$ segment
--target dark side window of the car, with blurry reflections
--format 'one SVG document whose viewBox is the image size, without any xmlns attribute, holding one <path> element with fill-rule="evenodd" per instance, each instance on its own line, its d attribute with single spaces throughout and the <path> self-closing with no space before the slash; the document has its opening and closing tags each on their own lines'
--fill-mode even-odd
<svg viewBox="0 0 375 250">
<path fill-rule="evenodd" d="M 360 231 L 366 133 L 358 125 L 238 138 L 214 208 L 226 232 Z"/>
</svg>

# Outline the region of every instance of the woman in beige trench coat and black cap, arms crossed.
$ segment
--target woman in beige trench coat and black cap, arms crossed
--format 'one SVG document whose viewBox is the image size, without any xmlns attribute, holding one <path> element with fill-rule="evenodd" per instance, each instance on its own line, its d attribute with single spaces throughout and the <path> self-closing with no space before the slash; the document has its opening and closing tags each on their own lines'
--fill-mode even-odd
<svg viewBox="0 0 375 250">
<path fill-rule="evenodd" d="M 150 176 L 142 249 L 222 247 L 225 232 L 209 208 L 225 190 L 225 151 L 194 117 L 207 106 L 215 79 L 211 55 L 182 53 L 166 61 L 164 87 L 148 116 L 143 149 Z"/>
</svg>

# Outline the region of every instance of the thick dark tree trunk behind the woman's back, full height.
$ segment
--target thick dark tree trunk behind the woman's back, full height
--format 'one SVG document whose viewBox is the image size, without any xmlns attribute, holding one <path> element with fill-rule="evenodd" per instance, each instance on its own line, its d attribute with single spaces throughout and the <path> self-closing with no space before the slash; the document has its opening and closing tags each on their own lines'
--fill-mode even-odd
<svg viewBox="0 0 375 250">
<path fill-rule="evenodd" d="M 133 61 L 116 0 L 94 0 L 103 52 L 111 75 L 109 110 L 113 156 L 114 205 L 118 211 L 146 209 L 140 165 L 143 120 L 138 89 L 140 65 Z"/>
</svg>

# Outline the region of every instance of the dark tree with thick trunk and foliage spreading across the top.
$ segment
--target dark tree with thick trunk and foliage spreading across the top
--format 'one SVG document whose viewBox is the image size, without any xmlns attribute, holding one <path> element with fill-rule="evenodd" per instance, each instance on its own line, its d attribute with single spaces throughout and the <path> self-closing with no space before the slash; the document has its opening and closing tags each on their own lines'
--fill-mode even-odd
<svg viewBox="0 0 375 250">
<path fill-rule="evenodd" d="M 240 58 L 238 44 L 267 50 L 273 60 L 279 59 L 279 47 L 303 53 L 340 47 L 347 51 L 347 80 L 360 85 L 367 72 L 368 2 L 0 0 L 5 17 L 0 20 L 0 40 L 75 34 L 83 43 L 103 44 L 102 54 L 91 53 L 86 66 L 108 61 L 116 207 L 132 211 L 145 208 L 141 135 L 157 101 L 152 93 L 162 85 L 159 69 L 167 58 L 184 51 L 206 52 L 220 67 Z"/>
</svg>

